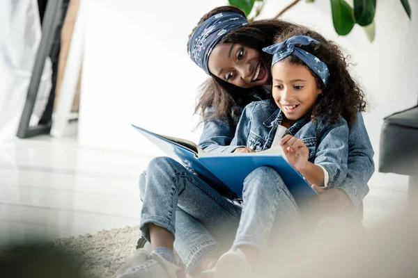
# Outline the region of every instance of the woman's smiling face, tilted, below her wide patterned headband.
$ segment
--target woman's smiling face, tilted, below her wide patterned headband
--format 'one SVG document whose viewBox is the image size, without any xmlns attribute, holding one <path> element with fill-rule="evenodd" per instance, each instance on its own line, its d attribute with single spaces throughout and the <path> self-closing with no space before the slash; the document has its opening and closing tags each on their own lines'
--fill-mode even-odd
<svg viewBox="0 0 418 278">
<path fill-rule="evenodd" d="M 270 82 L 270 71 L 256 49 L 240 44 L 218 44 L 208 60 L 210 72 L 241 88 L 251 88 Z"/>
</svg>

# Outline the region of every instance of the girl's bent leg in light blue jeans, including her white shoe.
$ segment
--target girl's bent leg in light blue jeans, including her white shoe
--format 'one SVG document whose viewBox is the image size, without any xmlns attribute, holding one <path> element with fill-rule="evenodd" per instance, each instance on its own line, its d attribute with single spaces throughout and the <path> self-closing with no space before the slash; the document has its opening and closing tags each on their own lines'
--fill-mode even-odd
<svg viewBox="0 0 418 278">
<path fill-rule="evenodd" d="M 301 218 L 295 199 L 279 174 L 259 167 L 244 181 L 242 213 L 233 247 L 216 265 L 215 277 L 254 277 L 255 266 L 274 227 L 292 226 Z M 270 243 L 269 243 L 270 244 Z"/>
</svg>

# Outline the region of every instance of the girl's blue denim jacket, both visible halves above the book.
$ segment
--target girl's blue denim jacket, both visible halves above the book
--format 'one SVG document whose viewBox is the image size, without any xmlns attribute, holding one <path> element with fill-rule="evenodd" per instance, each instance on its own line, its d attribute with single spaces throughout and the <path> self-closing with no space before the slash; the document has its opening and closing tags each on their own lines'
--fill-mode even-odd
<svg viewBox="0 0 418 278">
<path fill-rule="evenodd" d="M 283 113 L 273 99 L 256 101 L 247 105 L 238 122 L 231 145 L 250 147 L 261 152 L 272 147 L 277 126 Z M 291 136 L 304 142 L 309 149 L 308 161 L 320 165 L 329 175 L 328 186 L 341 184 L 347 176 L 348 125 L 343 117 L 330 124 L 328 117 L 320 116 L 312 122 L 302 117 L 290 129 Z"/>
</svg>

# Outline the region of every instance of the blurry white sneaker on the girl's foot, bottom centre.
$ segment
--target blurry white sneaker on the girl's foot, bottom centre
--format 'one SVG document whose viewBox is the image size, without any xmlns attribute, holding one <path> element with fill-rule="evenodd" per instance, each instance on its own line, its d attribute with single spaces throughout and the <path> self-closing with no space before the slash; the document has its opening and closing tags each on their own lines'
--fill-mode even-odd
<svg viewBox="0 0 418 278">
<path fill-rule="evenodd" d="M 229 250 L 217 261 L 215 266 L 215 278 L 253 277 L 253 270 L 249 265 L 245 254 L 238 248 Z"/>
</svg>

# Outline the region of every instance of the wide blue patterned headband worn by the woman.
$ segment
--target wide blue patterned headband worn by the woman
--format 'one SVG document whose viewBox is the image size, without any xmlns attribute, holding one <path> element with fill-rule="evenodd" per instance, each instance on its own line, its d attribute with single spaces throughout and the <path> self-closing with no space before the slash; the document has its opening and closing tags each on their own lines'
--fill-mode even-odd
<svg viewBox="0 0 418 278">
<path fill-rule="evenodd" d="M 210 75 L 208 60 L 210 51 L 225 34 L 248 24 L 239 13 L 226 12 L 212 15 L 196 28 L 189 40 L 189 56 L 196 65 Z"/>
</svg>

